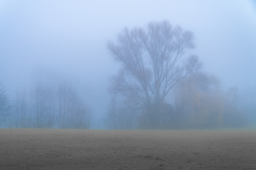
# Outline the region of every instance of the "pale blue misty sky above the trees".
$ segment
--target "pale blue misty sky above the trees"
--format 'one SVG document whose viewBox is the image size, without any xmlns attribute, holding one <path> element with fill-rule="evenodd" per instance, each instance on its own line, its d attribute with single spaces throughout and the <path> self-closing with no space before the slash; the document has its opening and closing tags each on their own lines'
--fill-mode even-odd
<svg viewBox="0 0 256 170">
<path fill-rule="evenodd" d="M 97 118 L 109 101 L 108 76 L 119 68 L 106 42 L 124 26 L 164 19 L 195 33 L 188 55 L 198 55 L 224 89 L 256 85 L 256 3 L 249 0 L 0 0 L 0 82 L 13 95 L 66 79 Z"/>
</svg>

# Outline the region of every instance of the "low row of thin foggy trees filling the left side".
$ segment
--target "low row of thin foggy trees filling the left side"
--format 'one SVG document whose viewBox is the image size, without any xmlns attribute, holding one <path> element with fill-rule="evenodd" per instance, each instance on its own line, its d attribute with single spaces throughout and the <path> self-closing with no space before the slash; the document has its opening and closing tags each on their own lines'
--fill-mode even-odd
<svg viewBox="0 0 256 170">
<path fill-rule="evenodd" d="M 37 83 L 30 91 L 17 90 L 12 100 L 1 85 L 0 99 L 0 121 L 10 128 L 91 129 L 92 126 L 92 109 L 66 81 L 57 89 Z"/>
</svg>

